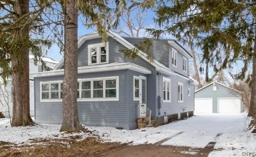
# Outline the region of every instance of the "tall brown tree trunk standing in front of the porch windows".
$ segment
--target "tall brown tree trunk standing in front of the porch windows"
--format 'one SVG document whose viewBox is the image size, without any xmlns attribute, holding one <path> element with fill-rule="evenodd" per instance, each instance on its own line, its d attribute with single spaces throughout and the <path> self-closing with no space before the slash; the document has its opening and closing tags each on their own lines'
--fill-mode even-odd
<svg viewBox="0 0 256 157">
<path fill-rule="evenodd" d="M 78 9 L 76 0 L 67 0 L 64 6 L 64 80 L 63 119 L 60 131 L 79 131 L 77 81 L 78 81 Z"/>
</svg>

